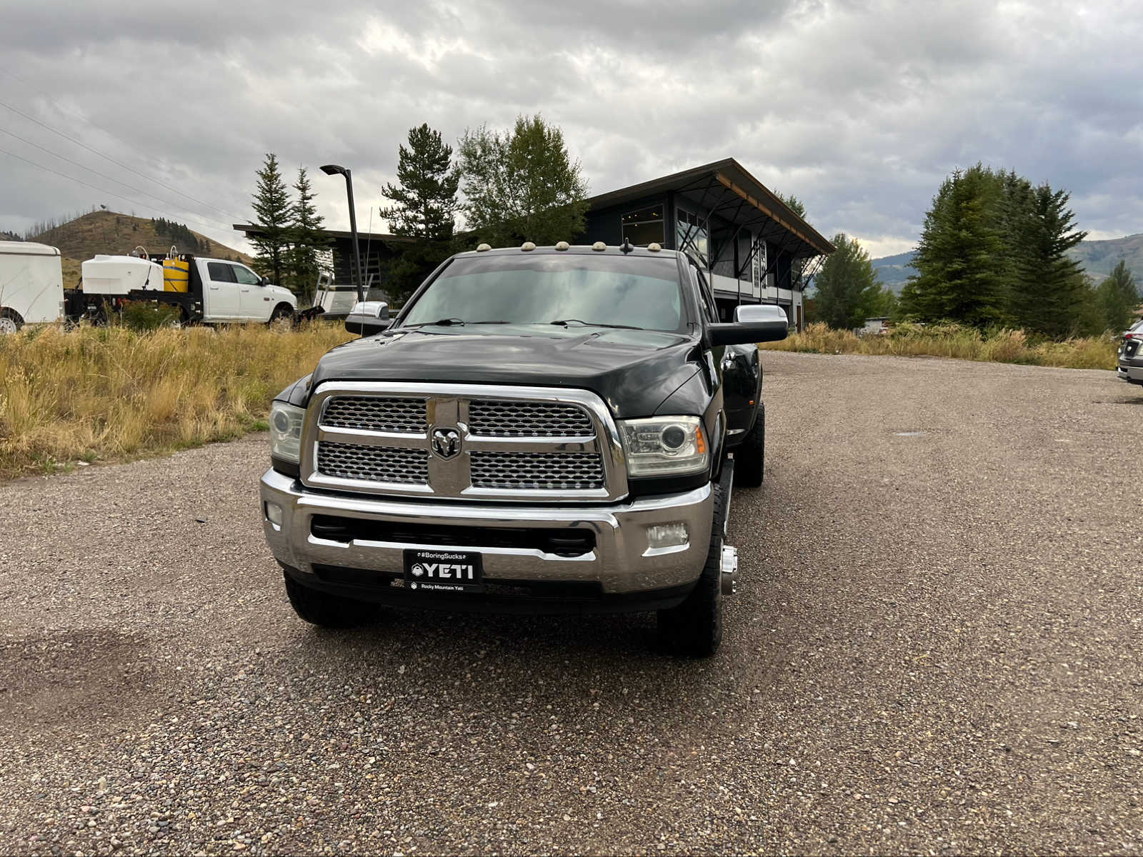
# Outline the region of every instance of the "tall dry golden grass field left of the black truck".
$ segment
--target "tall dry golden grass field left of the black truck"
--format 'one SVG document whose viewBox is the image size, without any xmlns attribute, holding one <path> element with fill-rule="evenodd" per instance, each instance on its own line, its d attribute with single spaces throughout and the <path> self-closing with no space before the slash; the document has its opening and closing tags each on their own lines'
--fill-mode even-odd
<svg viewBox="0 0 1143 857">
<path fill-rule="evenodd" d="M 352 338 L 319 323 L 0 337 L 0 479 L 121 460 L 263 427 L 271 399 Z"/>
</svg>

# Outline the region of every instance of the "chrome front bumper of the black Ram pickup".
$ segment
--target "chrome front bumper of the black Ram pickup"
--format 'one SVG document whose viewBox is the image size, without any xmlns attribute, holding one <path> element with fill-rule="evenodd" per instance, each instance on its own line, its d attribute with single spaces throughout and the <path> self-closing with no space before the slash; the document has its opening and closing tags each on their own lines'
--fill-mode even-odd
<svg viewBox="0 0 1143 857">
<path fill-rule="evenodd" d="M 440 545 L 353 539 L 331 542 L 312 532 L 314 515 L 339 515 L 378 523 L 440 527 L 589 528 L 596 547 L 578 556 L 525 547 L 449 545 L 479 551 L 485 578 L 506 582 L 598 582 L 605 594 L 645 592 L 698 579 L 710 546 L 713 496 L 710 486 L 685 494 L 628 500 L 606 506 L 523 506 L 496 503 L 431 503 L 361 495 L 318 494 L 299 481 L 269 470 L 262 476 L 262 519 L 274 558 L 313 575 L 314 566 L 336 566 L 400 575 L 403 551 Z M 266 504 L 281 508 L 281 524 L 266 518 Z M 684 545 L 653 548 L 647 527 L 685 523 Z"/>
</svg>

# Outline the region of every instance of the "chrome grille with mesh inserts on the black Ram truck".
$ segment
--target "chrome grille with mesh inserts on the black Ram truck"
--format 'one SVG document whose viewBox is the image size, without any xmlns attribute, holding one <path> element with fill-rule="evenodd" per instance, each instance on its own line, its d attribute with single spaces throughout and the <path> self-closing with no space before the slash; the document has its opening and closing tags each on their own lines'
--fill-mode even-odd
<svg viewBox="0 0 1143 857">
<path fill-rule="evenodd" d="M 434 430 L 459 435 L 456 455 L 433 451 Z M 628 494 L 607 406 L 573 387 L 329 381 L 302 436 L 302 482 L 322 490 L 561 503 Z"/>
</svg>

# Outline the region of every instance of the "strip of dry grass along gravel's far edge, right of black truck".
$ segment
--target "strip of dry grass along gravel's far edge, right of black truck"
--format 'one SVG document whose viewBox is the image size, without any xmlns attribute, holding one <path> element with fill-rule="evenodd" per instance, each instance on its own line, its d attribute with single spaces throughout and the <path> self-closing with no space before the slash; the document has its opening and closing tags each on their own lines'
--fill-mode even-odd
<svg viewBox="0 0 1143 857">
<path fill-rule="evenodd" d="M 1032 342 L 1023 330 L 1000 330 L 984 336 L 974 328 L 957 325 L 898 325 L 887 336 L 856 336 L 850 330 L 833 330 L 818 323 L 761 347 L 820 354 L 926 355 L 1068 369 L 1114 369 L 1118 345 L 1111 336 Z"/>
</svg>

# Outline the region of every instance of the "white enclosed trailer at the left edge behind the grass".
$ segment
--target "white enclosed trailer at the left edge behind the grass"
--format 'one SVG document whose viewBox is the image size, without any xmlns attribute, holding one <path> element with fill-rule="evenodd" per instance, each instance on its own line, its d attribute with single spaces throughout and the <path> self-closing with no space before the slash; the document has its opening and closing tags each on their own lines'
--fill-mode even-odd
<svg viewBox="0 0 1143 857">
<path fill-rule="evenodd" d="M 0 334 L 64 314 L 59 250 L 31 241 L 0 241 Z"/>
</svg>

